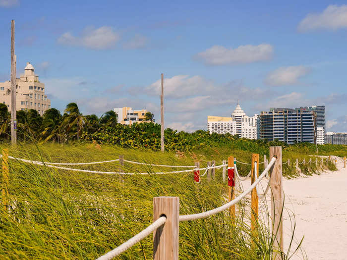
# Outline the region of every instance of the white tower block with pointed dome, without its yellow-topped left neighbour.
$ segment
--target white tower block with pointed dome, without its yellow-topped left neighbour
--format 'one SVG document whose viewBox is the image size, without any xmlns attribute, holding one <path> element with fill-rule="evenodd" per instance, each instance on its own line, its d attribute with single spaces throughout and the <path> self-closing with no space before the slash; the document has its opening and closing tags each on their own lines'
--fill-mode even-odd
<svg viewBox="0 0 347 260">
<path fill-rule="evenodd" d="M 231 113 L 231 118 L 236 122 L 236 134 L 241 138 L 257 139 L 257 114 L 247 116 L 237 103 L 235 110 Z"/>
</svg>

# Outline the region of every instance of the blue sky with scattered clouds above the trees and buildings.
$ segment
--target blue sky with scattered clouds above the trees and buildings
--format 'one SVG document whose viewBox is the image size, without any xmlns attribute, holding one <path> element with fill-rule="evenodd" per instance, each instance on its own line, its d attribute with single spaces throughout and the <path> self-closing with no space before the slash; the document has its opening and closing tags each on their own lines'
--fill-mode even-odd
<svg viewBox="0 0 347 260">
<path fill-rule="evenodd" d="M 346 2 L 346 1 L 345 1 Z M 63 112 L 146 108 L 165 126 L 206 129 L 237 101 L 251 116 L 270 107 L 326 105 L 327 131 L 347 132 L 344 1 L 0 0 L 0 82 L 31 62 Z"/>
</svg>

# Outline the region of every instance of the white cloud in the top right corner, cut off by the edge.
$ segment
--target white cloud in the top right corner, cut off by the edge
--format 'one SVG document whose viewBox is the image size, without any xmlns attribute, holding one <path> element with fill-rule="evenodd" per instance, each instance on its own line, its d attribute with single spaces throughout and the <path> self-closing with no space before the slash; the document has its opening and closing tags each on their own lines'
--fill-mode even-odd
<svg viewBox="0 0 347 260">
<path fill-rule="evenodd" d="M 327 29 L 347 28 L 347 5 L 329 5 L 322 13 L 310 13 L 299 23 L 301 32 Z"/>
</svg>

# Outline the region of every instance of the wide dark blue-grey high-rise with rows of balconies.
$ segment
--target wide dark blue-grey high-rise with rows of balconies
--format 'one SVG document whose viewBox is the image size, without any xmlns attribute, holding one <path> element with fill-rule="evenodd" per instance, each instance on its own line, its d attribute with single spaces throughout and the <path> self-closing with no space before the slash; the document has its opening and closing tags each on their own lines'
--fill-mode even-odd
<svg viewBox="0 0 347 260">
<path fill-rule="evenodd" d="M 260 139 L 314 143 L 314 121 L 315 114 L 308 109 L 270 108 L 259 116 Z"/>
</svg>

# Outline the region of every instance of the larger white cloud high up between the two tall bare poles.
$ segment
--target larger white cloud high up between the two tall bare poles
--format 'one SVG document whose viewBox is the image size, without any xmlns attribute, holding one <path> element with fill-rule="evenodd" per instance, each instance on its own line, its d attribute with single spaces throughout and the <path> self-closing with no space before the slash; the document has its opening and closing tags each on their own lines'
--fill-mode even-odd
<svg viewBox="0 0 347 260">
<path fill-rule="evenodd" d="M 70 32 L 64 33 L 58 38 L 58 43 L 102 50 L 114 47 L 119 39 L 119 34 L 112 27 L 103 26 L 97 29 L 86 27 L 80 36 L 74 36 Z"/>
</svg>

